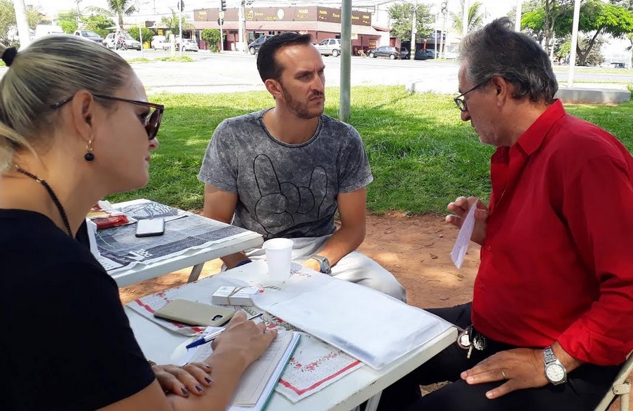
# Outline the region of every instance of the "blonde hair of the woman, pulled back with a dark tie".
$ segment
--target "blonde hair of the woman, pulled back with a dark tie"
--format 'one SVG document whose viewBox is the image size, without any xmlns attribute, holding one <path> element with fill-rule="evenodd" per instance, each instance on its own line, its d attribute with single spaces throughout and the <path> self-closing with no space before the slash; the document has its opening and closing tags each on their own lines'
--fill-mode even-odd
<svg viewBox="0 0 633 411">
<path fill-rule="evenodd" d="M 0 43 L 0 55 L 6 49 Z M 36 153 L 48 145 L 42 140 L 55 126 L 51 105 L 79 90 L 114 95 L 131 70 L 104 46 L 66 34 L 43 37 L 20 51 L 0 80 L 0 173 L 11 166 L 15 151 Z"/>
</svg>

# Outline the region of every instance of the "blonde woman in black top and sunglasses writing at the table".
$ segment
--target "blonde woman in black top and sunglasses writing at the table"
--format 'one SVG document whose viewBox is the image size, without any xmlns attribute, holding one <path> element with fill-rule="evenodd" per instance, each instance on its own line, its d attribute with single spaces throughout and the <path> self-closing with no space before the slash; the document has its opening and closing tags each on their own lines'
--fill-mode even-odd
<svg viewBox="0 0 633 411">
<path fill-rule="evenodd" d="M 147 184 L 163 106 L 125 60 L 79 37 L 0 55 L 0 410 L 225 410 L 276 333 L 236 315 L 179 376 L 198 395 L 165 394 L 156 375 L 177 371 L 155 374 L 116 283 L 76 240 L 90 205 Z"/>
</svg>

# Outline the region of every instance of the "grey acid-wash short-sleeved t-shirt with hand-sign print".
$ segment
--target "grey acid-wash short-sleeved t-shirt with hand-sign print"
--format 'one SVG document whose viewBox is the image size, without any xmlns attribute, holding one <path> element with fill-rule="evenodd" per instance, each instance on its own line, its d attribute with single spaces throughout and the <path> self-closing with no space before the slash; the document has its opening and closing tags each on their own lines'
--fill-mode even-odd
<svg viewBox="0 0 633 411">
<path fill-rule="evenodd" d="M 358 131 L 322 115 L 310 140 L 286 144 L 266 130 L 266 111 L 222 121 L 198 178 L 238 194 L 233 224 L 264 238 L 332 234 L 336 195 L 373 180 Z"/>
</svg>

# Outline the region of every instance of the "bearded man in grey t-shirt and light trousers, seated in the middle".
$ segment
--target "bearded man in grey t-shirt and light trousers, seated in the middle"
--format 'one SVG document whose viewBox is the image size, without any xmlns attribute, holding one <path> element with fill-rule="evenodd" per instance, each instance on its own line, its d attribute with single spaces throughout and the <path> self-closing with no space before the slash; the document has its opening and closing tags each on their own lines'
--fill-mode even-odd
<svg viewBox="0 0 633 411">
<path fill-rule="evenodd" d="M 311 36 L 273 36 L 257 68 L 275 107 L 216 128 L 198 175 L 204 214 L 266 239 L 292 238 L 295 262 L 406 300 L 388 271 L 355 251 L 365 238 L 372 172 L 358 132 L 323 114 L 325 66 Z M 257 248 L 222 260 L 232 268 L 263 257 Z"/>
</svg>

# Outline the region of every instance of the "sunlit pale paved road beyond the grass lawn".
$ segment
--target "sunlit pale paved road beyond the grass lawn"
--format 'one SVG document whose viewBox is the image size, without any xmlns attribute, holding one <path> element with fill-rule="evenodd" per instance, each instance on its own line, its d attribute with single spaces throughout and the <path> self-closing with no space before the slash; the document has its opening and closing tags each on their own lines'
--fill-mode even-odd
<svg viewBox="0 0 633 411">
<path fill-rule="evenodd" d="M 120 52 L 127 59 L 139 58 L 136 50 Z M 244 90 L 264 90 L 256 67 L 256 56 L 241 53 L 215 54 L 200 51 L 185 52 L 195 62 L 151 62 L 132 63 L 149 93 L 170 91 L 174 93 L 225 93 Z M 144 50 L 144 57 L 154 59 L 169 56 L 166 51 Z M 325 76 L 327 86 L 340 86 L 341 59 L 326 57 Z M 564 86 L 567 72 L 556 69 L 557 78 Z M 0 76 L 6 67 L 0 67 Z M 352 58 L 352 86 L 406 85 L 423 81 L 428 90 L 439 93 L 456 93 L 458 64 L 455 61 L 434 60 L 388 60 Z M 633 72 L 622 69 L 622 73 L 577 72 L 575 79 L 583 83 L 577 86 L 598 88 L 625 88 L 633 83 Z M 604 83 L 617 81 L 620 84 Z M 595 84 L 587 84 L 595 82 Z"/>
</svg>

